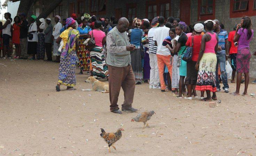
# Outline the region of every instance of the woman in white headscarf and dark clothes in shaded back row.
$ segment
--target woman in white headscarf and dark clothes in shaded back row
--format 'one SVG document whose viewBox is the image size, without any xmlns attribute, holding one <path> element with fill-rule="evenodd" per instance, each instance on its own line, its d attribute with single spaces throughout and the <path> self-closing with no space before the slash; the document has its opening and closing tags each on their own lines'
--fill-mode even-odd
<svg viewBox="0 0 256 156">
<path fill-rule="evenodd" d="M 40 18 L 37 23 L 38 41 L 37 41 L 37 59 L 45 58 L 45 19 Z"/>
</svg>

